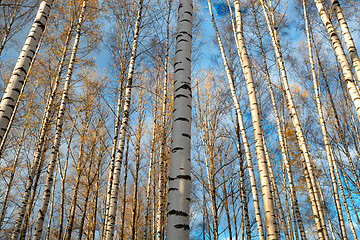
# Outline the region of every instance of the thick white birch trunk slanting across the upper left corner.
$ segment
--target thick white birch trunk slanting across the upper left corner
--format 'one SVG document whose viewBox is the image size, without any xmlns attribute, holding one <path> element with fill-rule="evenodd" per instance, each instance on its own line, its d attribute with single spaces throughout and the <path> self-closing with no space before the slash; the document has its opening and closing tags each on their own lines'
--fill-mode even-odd
<svg viewBox="0 0 360 240">
<path fill-rule="evenodd" d="M 41 1 L 30 33 L 27 36 L 24 47 L 21 50 L 10 81 L 2 97 L 0 103 L 0 141 L 3 139 L 6 129 L 9 127 L 9 121 L 11 115 L 13 114 L 14 106 L 17 102 L 22 85 L 24 84 L 25 76 L 29 70 L 37 46 L 44 32 L 52 3 L 53 0 Z M 17 224 L 14 228 L 14 232 L 19 231 L 20 228 L 18 225 L 19 224 Z"/>
</svg>

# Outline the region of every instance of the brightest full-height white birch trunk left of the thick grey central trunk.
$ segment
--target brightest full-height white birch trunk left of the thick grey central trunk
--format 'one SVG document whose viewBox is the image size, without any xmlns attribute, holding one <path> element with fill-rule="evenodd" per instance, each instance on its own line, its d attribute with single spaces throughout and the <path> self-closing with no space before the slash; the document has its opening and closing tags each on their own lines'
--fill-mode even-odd
<svg viewBox="0 0 360 240">
<path fill-rule="evenodd" d="M 120 168 L 121 162 L 123 159 L 123 152 L 124 152 L 124 145 L 125 145 L 125 136 L 128 129 L 128 118 L 130 112 L 130 102 L 131 102 L 131 90 L 132 90 L 132 80 L 133 80 L 133 73 L 135 68 L 135 59 L 136 59 L 136 50 L 137 50 L 137 43 L 139 39 L 139 31 L 140 31 L 140 22 L 141 22 L 141 13 L 142 13 L 142 6 L 143 0 L 139 1 L 139 9 L 136 17 L 135 22 L 135 31 L 134 31 L 134 40 L 131 49 L 131 58 L 129 63 L 129 72 L 126 81 L 126 90 L 125 90 L 125 103 L 123 109 L 123 116 L 121 121 L 121 128 L 120 128 L 120 135 L 119 135 L 119 143 L 118 149 L 116 154 L 115 160 L 115 168 L 113 173 L 113 182 L 111 186 L 111 200 L 110 200 L 110 207 L 106 225 L 106 232 L 105 232 L 105 239 L 112 240 L 114 237 L 114 230 L 115 230 L 115 214 L 117 209 L 117 196 L 119 192 L 119 181 L 120 181 Z"/>
</svg>

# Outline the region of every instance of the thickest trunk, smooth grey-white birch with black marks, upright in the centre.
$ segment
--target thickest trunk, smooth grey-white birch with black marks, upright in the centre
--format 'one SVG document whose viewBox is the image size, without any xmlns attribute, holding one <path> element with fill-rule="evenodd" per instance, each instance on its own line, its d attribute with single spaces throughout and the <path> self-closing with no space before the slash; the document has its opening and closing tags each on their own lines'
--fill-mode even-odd
<svg viewBox="0 0 360 240">
<path fill-rule="evenodd" d="M 167 239 L 189 238 L 192 0 L 180 0 L 174 72 L 174 113 Z"/>
</svg>

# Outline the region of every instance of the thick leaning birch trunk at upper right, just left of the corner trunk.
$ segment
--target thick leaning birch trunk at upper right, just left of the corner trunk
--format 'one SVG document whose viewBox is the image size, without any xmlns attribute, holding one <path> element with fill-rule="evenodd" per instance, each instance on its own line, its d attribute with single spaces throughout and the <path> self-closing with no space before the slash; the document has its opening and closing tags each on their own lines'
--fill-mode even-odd
<svg viewBox="0 0 360 240">
<path fill-rule="evenodd" d="M 355 110 L 358 116 L 358 119 L 360 120 L 360 94 L 356 88 L 356 84 L 354 82 L 354 77 L 353 74 L 351 72 L 351 68 L 350 68 L 350 64 L 346 58 L 345 52 L 343 47 L 341 46 L 341 42 L 339 39 L 339 36 L 336 33 L 336 30 L 333 26 L 333 24 L 330 21 L 330 18 L 327 14 L 327 11 L 325 9 L 324 3 L 322 0 L 314 0 L 316 7 L 319 11 L 321 20 L 324 24 L 324 26 L 326 27 L 326 30 L 329 34 L 330 40 L 331 40 L 331 44 L 334 48 L 336 57 L 340 63 L 341 69 L 343 71 L 343 75 L 344 75 L 344 79 L 345 79 L 345 84 L 346 87 L 349 91 L 350 97 L 353 101 L 353 104 L 355 106 Z M 344 24 L 341 22 L 340 26 Z M 343 28 L 342 26 L 342 28 Z M 344 35 L 345 37 L 345 35 Z M 346 40 L 349 40 L 348 37 L 345 38 Z M 348 41 L 347 41 L 348 42 Z M 351 53 L 354 53 L 352 51 L 353 49 L 349 49 L 349 52 L 351 51 Z"/>
</svg>

